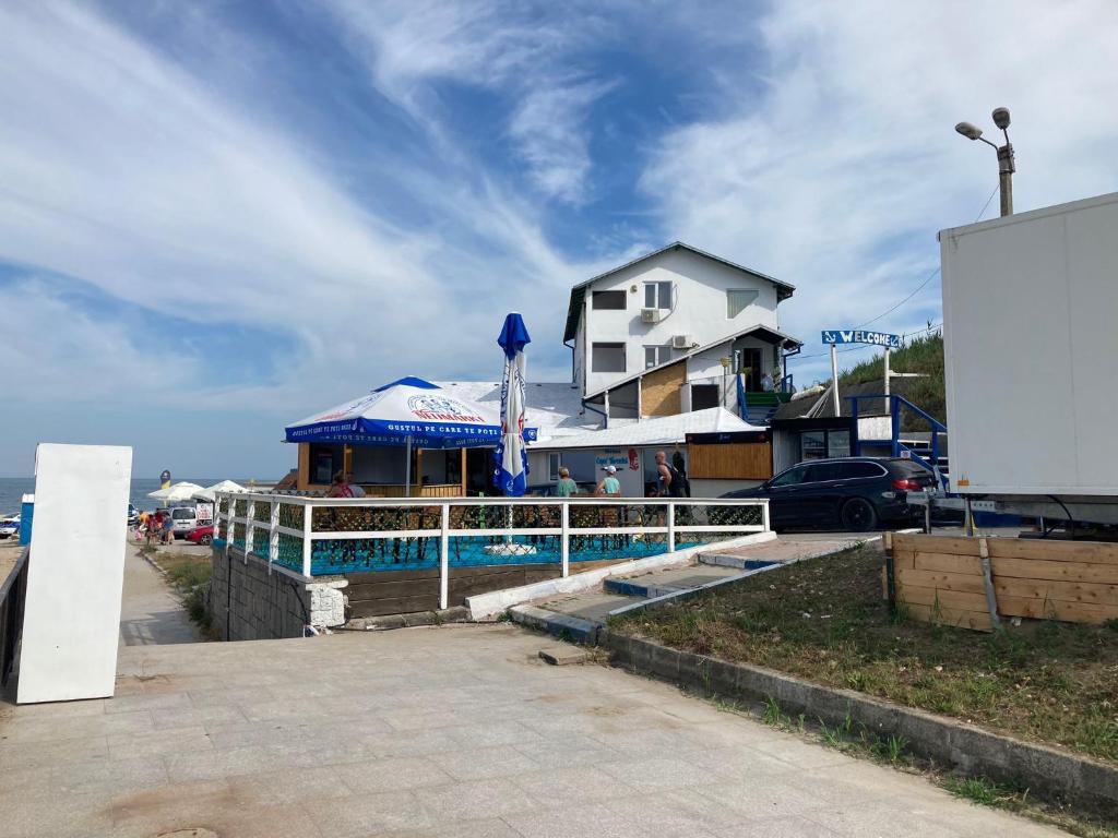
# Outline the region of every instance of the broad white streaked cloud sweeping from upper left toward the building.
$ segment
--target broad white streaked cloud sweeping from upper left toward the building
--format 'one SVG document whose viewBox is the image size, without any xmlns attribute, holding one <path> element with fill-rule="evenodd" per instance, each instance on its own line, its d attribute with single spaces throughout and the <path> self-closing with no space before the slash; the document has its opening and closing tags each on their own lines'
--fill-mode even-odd
<svg viewBox="0 0 1118 838">
<path fill-rule="evenodd" d="M 567 374 L 555 302 L 587 274 L 501 188 L 453 169 L 397 169 L 394 185 L 436 219 L 401 229 L 366 211 L 282 126 L 88 11 L 4 6 L 0 50 L 0 108 L 20 115 L 0 124 L 0 258 L 296 347 L 265 380 L 222 388 L 183 347 L 179 369 L 195 379 L 181 389 L 197 403 L 291 404 L 297 416 L 398 372 L 492 377 L 504 311 L 482 299 L 539 324 L 537 370 Z M 134 359 L 108 351 L 122 345 L 115 324 L 88 314 L 82 336 L 82 354 L 120 366 L 100 385 L 126 389 Z M 0 353 L 6 363 L 13 354 Z M 68 374 L 72 391 L 85 387 L 82 364 Z"/>
</svg>

